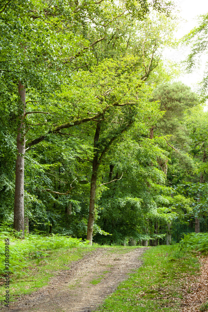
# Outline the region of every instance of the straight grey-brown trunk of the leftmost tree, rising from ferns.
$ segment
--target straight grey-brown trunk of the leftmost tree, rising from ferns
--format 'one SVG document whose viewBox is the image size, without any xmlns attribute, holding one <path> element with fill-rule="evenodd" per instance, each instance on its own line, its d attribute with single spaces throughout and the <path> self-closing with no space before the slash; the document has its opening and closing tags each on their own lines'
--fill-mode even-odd
<svg viewBox="0 0 208 312">
<path fill-rule="evenodd" d="M 24 156 L 25 156 L 25 108 L 26 91 L 24 85 L 19 81 L 18 93 L 19 116 L 17 128 L 17 160 L 15 172 L 15 195 L 14 195 L 14 224 L 16 231 L 25 231 L 24 224 Z"/>
</svg>

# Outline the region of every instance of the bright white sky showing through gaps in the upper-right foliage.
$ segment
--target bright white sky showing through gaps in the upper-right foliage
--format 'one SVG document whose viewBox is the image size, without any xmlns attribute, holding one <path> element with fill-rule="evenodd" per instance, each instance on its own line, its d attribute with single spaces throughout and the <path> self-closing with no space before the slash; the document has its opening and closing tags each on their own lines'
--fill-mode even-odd
<svg viewBox="0 0 208 312">
<path fill-rule="evenodd" d="M 197 26 L 197 15 L 206 14 L 208 12 L 208 1 L 207 0 L 173 0 L 177 8 L 181 11 L 178 13 L 185 21 L 180 23 L 180 29 L 175 34 L 176 38 L 181 38 L 186 35 L 191 29 Z M 169 50 L 165 51 L 166 57 L 174 61 L 184 60 L 188 51 L 176 51 Z M 202 65 L 206 62 L 207 56 L 202 58 Z M 203 68 L 197 70 L 193 74 L 185 74 L 180 79 L 186 85 L 191 86 L 192 90 L 197 90 L 197 83 L 203 78 Z"/>
</svg>

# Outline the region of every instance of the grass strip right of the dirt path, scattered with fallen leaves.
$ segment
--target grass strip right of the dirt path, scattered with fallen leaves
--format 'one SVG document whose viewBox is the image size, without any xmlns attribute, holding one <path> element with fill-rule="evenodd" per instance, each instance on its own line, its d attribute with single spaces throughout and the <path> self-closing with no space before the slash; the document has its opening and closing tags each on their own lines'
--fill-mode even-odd
<svg viewBox="0 0 208 312">
<path fill-rule="evenodd" d="M 143 255 L 143 266 L 118 289 L 97 311 L 152 312 L 179 311 L 184 276 L 198 274 L 198 259 L 179 254 L 177 246 L 158 246 Z"/>
</svg>

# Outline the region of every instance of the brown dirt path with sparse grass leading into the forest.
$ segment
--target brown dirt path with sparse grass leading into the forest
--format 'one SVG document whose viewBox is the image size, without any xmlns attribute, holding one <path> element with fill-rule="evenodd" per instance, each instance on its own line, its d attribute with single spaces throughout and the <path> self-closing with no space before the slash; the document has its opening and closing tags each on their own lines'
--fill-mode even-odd
<svg viewBox="0 0 208 312">
<path fill-rule="evenodd" d="M 1 311 L 88 312 L 94 310 L 128 278 L 127 273 L 141 266 L 139 256 L 147 248 L 115 250 L 98 248 L 60 271 L 49 285 L 25 295 L 19 302 Z M 129 252 L 128 252 L 129 251 Z M 127 252 L 127 253 L 125 253 Z"/>
</svg>

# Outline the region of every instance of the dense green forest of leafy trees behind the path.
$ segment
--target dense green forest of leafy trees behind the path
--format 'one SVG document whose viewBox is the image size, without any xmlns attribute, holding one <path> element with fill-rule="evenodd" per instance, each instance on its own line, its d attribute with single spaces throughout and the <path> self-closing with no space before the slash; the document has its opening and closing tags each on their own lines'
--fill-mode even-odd
<svg viewBox="0 0 208 312">
<path fill-rule="evenodd" d="M 207 19 L 163 0 L 0 1 L 0 222 L 99 244 L 208 227 Z M 190 46 L 183 63 L 167 48 Z"/>
</svg>

